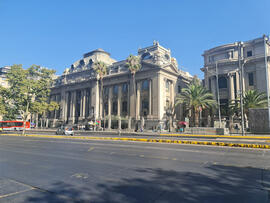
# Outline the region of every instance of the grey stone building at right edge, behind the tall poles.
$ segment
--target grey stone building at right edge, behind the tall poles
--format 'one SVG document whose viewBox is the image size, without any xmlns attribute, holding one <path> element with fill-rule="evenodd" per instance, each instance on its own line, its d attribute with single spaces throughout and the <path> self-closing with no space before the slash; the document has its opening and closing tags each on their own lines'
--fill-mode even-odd
<svg viewBox="0 0 270 203">
<path fill-rule="evenodd" d="M 241 79 L 243 92 L 249 89 L 267 91 L 266 79 L 269 80 L 270 67 L 269 47 L 268 42 L 265 43 L 264 37 L 260 37 L 204 51 L 202 55 L 204 67 L 201 68 L 204 72 L 204 85 L 212 91 L 216 99 L 219 92 L 223 117 L 228 115 L 229 101 L 238 98 L 241 93 Z M 265 59 L 267 63 L 265 63 Z M 242 66 L 243 77 L 240 71 Z M 218 75 L 218 85 L 216 75 Z"/>
</svg>

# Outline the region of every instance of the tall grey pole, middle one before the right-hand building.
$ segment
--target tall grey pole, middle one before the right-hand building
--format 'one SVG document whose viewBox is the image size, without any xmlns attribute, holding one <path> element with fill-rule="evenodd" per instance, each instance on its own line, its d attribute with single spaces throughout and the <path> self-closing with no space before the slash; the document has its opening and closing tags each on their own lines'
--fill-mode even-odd
<svg viewBox="0 0 270 203">
<path fill-rule="evenodd" d="M 242 63 L 243 60 L 243 53 L 242 53 L 242 48 L 243 48 L 243 42 L 238 42 L 238 63 L 239 63 L 239 70 L 241 73 L 240 77 L 240 108 L 241 108 L 241 131 L 242 131 L 242 136 L 245 135 L 245 126 L 244 126 L 244 108 L 243 108 L 243 94 L 244 94 L 244 87 L 243 87 L 243 77 L 244 77 L 244 63 Z"/>
</svg>

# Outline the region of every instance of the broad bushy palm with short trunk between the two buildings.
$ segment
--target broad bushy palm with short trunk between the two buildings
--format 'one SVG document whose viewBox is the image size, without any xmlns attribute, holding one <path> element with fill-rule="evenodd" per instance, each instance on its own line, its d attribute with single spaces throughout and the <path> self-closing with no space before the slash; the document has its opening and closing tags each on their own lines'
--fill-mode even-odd
<svg viewBox="0 0 270 203">
<path fill-rule="evenodd" d="M 216 107 L 213 94 L 207 91 L 201 84 L 192 82 L 187 88 L 183 88 L 180 95 L 176 96 L 175 106 L 185 104 L 192 111 L 193 122 L 199 126 L 199 112 L 203 109 Z"/>
</svg>

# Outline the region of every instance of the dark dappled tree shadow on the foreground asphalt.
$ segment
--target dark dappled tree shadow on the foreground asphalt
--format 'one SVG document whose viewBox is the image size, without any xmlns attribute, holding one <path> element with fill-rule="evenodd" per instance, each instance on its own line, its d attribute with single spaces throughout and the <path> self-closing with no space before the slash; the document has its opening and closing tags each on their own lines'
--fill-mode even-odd
<svg viewBox="0 0 270 203">
<path fill-rule="evenodd" d="M 196 170 L 194 170 L 196 171 Z M 270 172 L 251 167 L 210 165 L 202 173 L 134 169 L 132 178 L 75 186 L 58 182 L 51 192 L 27 202 L 268 202 Z M 106 174 L 104 174 L 106 175 Z M 135 176 L 135 177 L 134 177 Z"/>
</svg>

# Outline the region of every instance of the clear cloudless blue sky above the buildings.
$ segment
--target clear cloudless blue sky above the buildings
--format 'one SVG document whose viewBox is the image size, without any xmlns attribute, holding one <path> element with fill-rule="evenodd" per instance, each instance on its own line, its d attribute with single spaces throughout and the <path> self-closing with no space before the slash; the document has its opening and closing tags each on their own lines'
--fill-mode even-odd
<svg viewBox="0 0 270 203">
<path fill-rule="evenodd" d="M 202 78 L 204 50 L 270 34 L 269 0 L 0 0 L 0 67 L 62 74 L 103 48 L 123 60 L 153 40 Z"/>
</svg>

